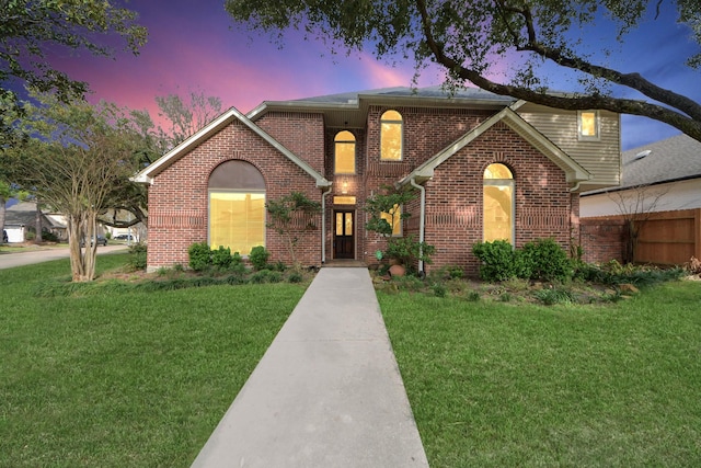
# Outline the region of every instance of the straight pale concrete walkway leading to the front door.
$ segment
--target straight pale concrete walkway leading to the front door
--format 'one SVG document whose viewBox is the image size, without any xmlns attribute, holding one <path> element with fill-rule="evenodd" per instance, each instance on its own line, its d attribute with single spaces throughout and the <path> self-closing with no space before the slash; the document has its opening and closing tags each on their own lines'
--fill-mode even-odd
<svg viewBox="0 0 701 468">
<path fill-rule="evenodd" d="M 193 467 L 427 467 L 370 275 L 322 269 Z"/>
</svg>

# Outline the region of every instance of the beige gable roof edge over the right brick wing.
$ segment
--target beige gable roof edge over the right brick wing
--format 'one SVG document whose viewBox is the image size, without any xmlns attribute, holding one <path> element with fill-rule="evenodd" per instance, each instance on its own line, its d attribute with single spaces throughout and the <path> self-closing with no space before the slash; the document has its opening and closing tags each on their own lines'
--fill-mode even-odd
<svg viewBox="0 0 701 468">
<path fill-rule="evenodd" d="M 499 122 L 506 124 L 509 128 L 520 135 L 526 141 L 545 155 L 552 162 L 562 169 L 567 178 L 567 182 L 583 182 L 591 178 L 591 174 L 579 165 L 567 153 L 560 149 L 555 144 L 550 141 L 543 134 L 538 132 L 532 125 L 521 118 L 513 107 L 522 104 L 522 101 L 516 102 L 509 107 L 504 107 L 482 124 L 478 125 L 457 141 L 447 146 L 426 162 L 414 169 L 409 175 L 402 179 L 400 185 L 407 184 L 412 179 L 417 182 L 424 182 L 434 175 L 434 170 L 450 159 L 462 148 L 474 141 L 480 135 L 492 128 Z"/>
</svg>

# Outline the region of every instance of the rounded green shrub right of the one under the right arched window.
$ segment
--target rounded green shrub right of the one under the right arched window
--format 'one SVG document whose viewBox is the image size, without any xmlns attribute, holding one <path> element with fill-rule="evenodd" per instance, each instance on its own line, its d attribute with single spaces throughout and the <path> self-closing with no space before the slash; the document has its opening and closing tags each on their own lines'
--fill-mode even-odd
<svg viewBox="0 0 701 468">
<path fill-rule="evenodd" d="M 521 273 L 520 277 L 564 282 L 573 276 L 572 262 L 567 258 L 567 252 L 552 238 L 528 242 L 524 246 L 522 255 L 530 274 L 525 276 Z"/>
</svg>

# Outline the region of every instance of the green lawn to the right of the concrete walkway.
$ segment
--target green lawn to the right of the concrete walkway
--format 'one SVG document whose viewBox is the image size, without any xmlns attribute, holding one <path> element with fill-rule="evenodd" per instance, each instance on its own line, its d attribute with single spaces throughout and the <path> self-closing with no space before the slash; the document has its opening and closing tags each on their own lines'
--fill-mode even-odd
<svg viewBox="0 0 701 468">
<path fill-rule="evenodd" d="M 432 467 L 701 466 L 701 283 L 607 306 L 378 296 Z"/>
</svg>

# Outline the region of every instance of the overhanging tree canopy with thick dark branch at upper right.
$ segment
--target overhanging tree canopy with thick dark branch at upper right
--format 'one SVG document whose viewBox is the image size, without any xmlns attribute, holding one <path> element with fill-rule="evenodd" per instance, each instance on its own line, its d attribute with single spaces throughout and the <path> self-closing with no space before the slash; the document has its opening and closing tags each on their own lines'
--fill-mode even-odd
<svg viewBox="0 0 701 468">
<path fill-rule="evenodd" d="M 287 28 L 321 39 L 337 52 L 371 48 L 378 58 L 412 58 L 420 72 L 428 62 L 447 70 L 448 88 L 472 83 L 496 94 L 564 110 L 601 109 L 669 124 L 701 141 L 701 105 L 657 85 L 637 72 L 597 62 L 611 49 L 588 49 L 586 32 L 606 23 L 614 39 L 650 16 L 664 0 L 226 0 L 231 16 L 253 31 L 284 41 Z M 678 23 L 701 43 L 701 0 L 676 0 Z M 616 62 L 610 60 L 611 62 Z M 496 68 L 508 65 L 503 79 Z M 577 77 L 581 90 L 549 92 L 547 66 Z M 688 57 L 698 69 L 701 52 Z M 646 100 L 617 98 L 612 85 L 627 87 Z"/>
</svg>

